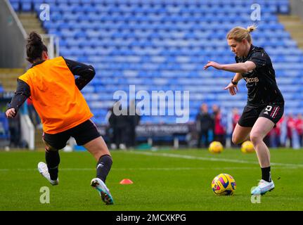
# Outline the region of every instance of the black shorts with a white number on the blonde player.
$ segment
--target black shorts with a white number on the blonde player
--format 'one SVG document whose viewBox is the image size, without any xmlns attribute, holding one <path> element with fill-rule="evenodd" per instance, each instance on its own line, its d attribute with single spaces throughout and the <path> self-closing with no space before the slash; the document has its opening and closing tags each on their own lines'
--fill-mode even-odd
<svg viewBox="0 0 303 225">
<path fill-rule="evenodd" d="M 241 127 L 253 127 L 259 117 L 265 117 L 271 120 L 276 127 L 276 123 L 281 119 L 283 113 L 283 103 L 269 103 L 261 107 L 246 105 L 238 124 Z"/>
</svg>

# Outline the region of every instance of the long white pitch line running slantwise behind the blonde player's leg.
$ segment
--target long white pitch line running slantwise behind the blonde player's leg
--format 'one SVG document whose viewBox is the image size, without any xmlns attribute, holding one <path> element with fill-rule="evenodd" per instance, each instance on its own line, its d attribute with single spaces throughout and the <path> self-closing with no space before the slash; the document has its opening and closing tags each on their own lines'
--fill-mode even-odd
<svg viewBox="0 0 303 225">
<path fill-rule="evenodd" d="M 242 164 L 253 164 L 259 165 L 258 162 L 246 161 L 246 160 L 231 160 L 225 158 L 206 158 L 200 156 L 193 155 L 179 155 L 172 153 L 148 153 L 148 152 L 137 152 L 137 151 L 129 151 L 129 153 L 138 154 L 138 155 L 150 155 L 150 156 L 162 156 L 168 158 L 183 158 L 187 160 L 203 160 L 203 161 L 214 161 L 214 162 L 235 162 Z M 289 164 L 289 163 L 279 163 L 279 162 L 271 162 L 272 166 L 282 166 L 282 167 L 303 167 L 302 164 Z"/>
</svg>

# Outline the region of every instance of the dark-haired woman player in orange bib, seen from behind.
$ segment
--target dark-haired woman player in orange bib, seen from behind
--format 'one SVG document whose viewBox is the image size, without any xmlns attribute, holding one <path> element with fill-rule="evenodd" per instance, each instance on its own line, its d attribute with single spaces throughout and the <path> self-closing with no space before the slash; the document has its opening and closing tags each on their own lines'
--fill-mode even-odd
<svg viewBox="0 0 303 225">
<path fill-rule="evenodd" d="M 18 78 L 17 91 L 6 116 L 15 117 L 25 100 L 31 98 L 44 130 L 46 164 L 38 164 L 42 176 L 52 185 L 58 184 L 58 150 L 64 148 L 72 136 L 78 146 L 84 146 L 96 158 L 96 178 L 92 179 L 91 186 L 96 188 L 103 202 L 112 204 L 112 195 L 105 185 L 112 158 L 91 121 L 93 114 L 80 92 L 93 79 L 94 68 L 63 57 L 49 59 L 47 48 L 36 32 L 30 33 L 26 49 L 32 67 Z M 77 79 L 76 75 L 79 76 Z"/>
</svg>

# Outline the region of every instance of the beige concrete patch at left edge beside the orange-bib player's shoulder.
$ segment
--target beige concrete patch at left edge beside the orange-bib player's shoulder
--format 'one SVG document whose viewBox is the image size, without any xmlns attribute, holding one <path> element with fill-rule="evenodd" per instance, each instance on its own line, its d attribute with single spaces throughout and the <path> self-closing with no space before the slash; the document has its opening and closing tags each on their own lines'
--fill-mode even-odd
<svg viewBox="0 0 303 225">
<path fill-rule="evenodd" d="M 25 70 L 21 68 L 6 69 L 0 68 L 0 83 L 5 91 L 15 91 L 17 87 L 17 78 L 22 75 Z"/>
</svg>

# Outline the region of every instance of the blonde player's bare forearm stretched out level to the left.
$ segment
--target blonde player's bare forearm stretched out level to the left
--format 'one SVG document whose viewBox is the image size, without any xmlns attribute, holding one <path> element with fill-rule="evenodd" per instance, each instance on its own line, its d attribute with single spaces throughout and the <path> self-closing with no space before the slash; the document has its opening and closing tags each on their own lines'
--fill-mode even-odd
<svg viewBox="0 0 303 225">
<path fill-rule="evenodd" d="M 246 61 L 245 63 L 233 63 L 233 64 L 219 64 L 214 61 L 208 61 L 208 63 L 204 66 L 204 70 L 209 67 L 216 68 L 217 70 L 226 70 L 228 72 L 240 72 L 245 73 L 250 70 L 254 70 L 256 65 L 252 61 Z"/>
</svg>

